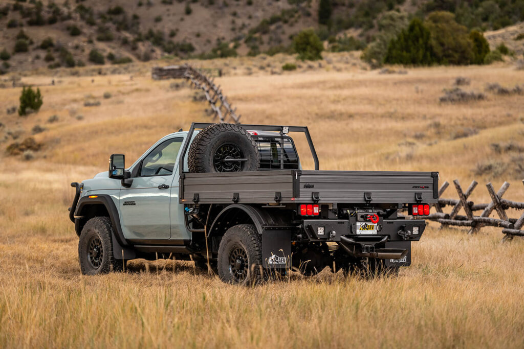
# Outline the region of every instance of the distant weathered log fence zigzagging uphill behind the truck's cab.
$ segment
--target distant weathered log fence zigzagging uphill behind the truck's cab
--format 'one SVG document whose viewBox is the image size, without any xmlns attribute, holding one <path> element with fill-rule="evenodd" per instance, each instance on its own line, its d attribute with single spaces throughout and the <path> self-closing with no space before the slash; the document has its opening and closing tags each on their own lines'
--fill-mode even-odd
<svg viewBox="0 0 524 349">
<path fill-rule="evenodd" d="M 189 64 L 170 65 L 165 67 L 154 67 L 151 77 L 154 80 L 165 80 L 169 78 L 185 78 L 191 87 L 201 89 L 205 99 L 213 110 L 213 119 L 218 118 L 220 122 L 240 123 L 240 115 L 236 114 L 236 108 L 231 106 L 227 97 L 222 93 L 220 85 L 215 84 L 215 78 L 210 77 L 214 70 L 195 69 Z M 206 73 L 204 73 L 206 72 Z M 222 71 L 218 70 L 218 76 L 222 76 Z"/>
</svg>

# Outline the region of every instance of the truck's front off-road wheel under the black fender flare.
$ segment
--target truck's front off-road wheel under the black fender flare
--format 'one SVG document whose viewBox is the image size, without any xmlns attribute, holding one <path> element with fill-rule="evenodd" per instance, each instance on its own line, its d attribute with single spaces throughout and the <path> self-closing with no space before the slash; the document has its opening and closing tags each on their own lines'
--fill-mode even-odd
<svg viewBox="0 0 524 349">
<path fill-rule="evenodd" d="M 115 260 L 113 256 L 112 233 L 109 217 L 94 217 L 85 223 L 78 242 L 82 274 L 97 275 L 122 271 L 122 260 Z"/>
</svg>

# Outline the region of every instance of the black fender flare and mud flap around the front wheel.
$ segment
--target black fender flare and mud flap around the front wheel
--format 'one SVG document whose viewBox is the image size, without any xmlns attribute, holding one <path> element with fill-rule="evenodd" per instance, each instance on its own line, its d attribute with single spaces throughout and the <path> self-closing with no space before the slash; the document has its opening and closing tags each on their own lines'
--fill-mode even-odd
<svg viewBox="0 0 524 349">
<path fill-rule="evenodd" d="M 113 255 L 117 259 L 121 259 L 122 255 L 125 259 L 133 259 L 136 257 L 135 251 L 130 248 L 130 244 L 124 238 L 124 233 L 122 232 L 122 226 L 120 224 L 120 217 L 118 216 L 118 210 L 116 205 L 107 194 L 97 194 L 92 195 L 96 197 L 84 196 L 80 198 L 77 204 L 77 209 L 74 211 L 74 227 L 77 231 L 77 235 L 80 236 L 80 224 L 79 220 L 81 216 L 79 215 L 82 212 L 82 209 L 87 205 L 103 205 L 107 212 L 109 213 L 109 218 L 111 219 L 111 225 L 113 226 Z"/>
</svg>

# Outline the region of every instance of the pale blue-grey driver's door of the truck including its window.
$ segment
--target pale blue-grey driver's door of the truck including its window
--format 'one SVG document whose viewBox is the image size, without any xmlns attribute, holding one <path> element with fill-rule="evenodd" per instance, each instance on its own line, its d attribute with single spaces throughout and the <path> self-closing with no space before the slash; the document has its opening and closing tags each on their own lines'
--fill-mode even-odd
<svg viewBox="0 0 524 349">
<path fill-rule="evenodd" d="M 178 176 L 175 170 L 182 141 L 183 137 L 176 137 L 158 144 L 137 164 L 133 184 L 122 187 L 120 212 L 127 239 L 171 238 L 171 184 Z"/>
</svg>

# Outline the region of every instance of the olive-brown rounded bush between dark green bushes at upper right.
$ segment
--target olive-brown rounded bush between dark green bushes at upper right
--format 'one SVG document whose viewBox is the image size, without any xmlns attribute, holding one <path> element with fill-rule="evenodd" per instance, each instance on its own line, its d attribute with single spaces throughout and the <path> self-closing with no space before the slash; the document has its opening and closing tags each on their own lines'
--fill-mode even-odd
<svg viewBox="0 0 524 349">
<path fill-rule="evenodd" d="M 431 32 L 435 62 L 464 65 L 474 61 L 473 41 L 467 28 L 455 21 L 454 14 L 432 12 L 424 24 Z"/>
</svg>

